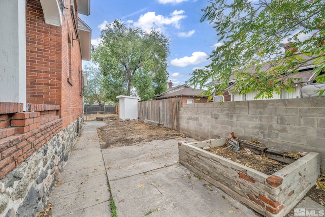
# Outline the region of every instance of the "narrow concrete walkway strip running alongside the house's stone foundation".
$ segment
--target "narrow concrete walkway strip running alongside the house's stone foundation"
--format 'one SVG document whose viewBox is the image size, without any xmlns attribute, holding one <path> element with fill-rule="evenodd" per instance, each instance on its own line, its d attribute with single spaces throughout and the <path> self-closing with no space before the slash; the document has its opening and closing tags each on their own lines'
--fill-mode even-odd
<svg viewBox="0 0 325 217">
<path fill-rule="evenodd" d="M 71 156 L 49 195 L 52 216 L 111 216 L 110 192 L 96 128 L 85 121 Z"/>
</svg>

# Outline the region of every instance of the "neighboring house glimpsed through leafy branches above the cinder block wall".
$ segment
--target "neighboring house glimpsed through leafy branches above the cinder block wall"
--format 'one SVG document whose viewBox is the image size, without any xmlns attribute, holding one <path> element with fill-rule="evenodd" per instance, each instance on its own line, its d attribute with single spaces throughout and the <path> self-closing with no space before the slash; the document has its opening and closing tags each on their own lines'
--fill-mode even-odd
<svg viewBox="0 0 325 217">
<path fill-rule="evenodd" d="M 287 43 L 284 45 L 284 48 L 289 47 L 290 43 Z M 306 59 L 308 59 L 308 57 L 306 56 Z M 270 65 L 266 64 L 262 67 L 261 71 L 263 70 L 268 70 L 270 68 Z M 304 67 L 300 67 L 299 68 L 299 72 L 296 74 L 291 74 L 288 75 L 287 78 L 301 78 L 301 79 L 297 79 L 294 81 L 293 84 L 293 89 L 294 91 L 292 92 L 288 92 L 286 90 L 281 90 L 281 94 L 278 95 L 276 93 L 273 94 L 273 98 L 271 99 L 294 99 L 294 98 L 301 98 L 302 97 L 302 93 L 301 93 L 301 88 L 305 85 L 309 85 L 315 82 L 315 78 L 317 76 L 316 73 L 311 73 L 312 70 L 314 69 L 314 65 L 312 63 L 312 61 L 307 61 L 307 63 L 305 64 Z M 249 68 L 248 71 L 251 71 L 251 73 L 254 73 L 255 68 Z M 208 84 L 206 84 L 205 86 L 209 86 L 209 85 L 215 85 L 217 83 L 219 83 L 219 80 L 216 81 L 212 81 Z M 254 92 L 250 92 L 248 94 L 244 94 L 244 95 L 240 95 L 238 93 L 231 93 L 232 90 L 232 84 L 234 84 L 236 82 L 236 78 L 234 77 L 234 75 L 232 75 L 229 79 L 229 84 L 230 87 L 223 90 L 223 97 L 224 97 L 224 101 L 228 102 L 228 101 L 245 101 L 245 100 L 255 100 L 254 98 L 257 96 L 258 91 L 254 91 Z M 256 99 L 256 100 L 262 100 L 262 99 Z M 267 99 L 267 100 L 270 100 Z"/>
</svg>

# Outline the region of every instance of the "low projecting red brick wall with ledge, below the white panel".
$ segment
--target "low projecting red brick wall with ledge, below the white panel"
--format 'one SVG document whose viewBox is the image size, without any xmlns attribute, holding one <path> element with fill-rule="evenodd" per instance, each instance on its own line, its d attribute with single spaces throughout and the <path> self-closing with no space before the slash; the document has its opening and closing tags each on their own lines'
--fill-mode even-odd
<svg viewBox="0 0 325 217">
<path fill-rule="evenodd" d="M 62 129 L 58 105 L 0 102 L 0 179 Z M 16 109 L 15 109 L 16 108 Z"/>
</svg>

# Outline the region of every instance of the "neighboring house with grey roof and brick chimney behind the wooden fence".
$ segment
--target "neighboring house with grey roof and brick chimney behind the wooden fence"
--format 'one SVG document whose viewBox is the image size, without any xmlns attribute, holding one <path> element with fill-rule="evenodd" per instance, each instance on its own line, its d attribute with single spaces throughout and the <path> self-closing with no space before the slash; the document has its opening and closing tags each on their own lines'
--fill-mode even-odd
<svg viewBox="0 0 325 217">
<path fill-rule="evenodd" d="M 154 100 L 163 100 L 168 98 L 182 98 L 182 104 L 190 103 L 206 103 L 208 100 L 207 96 L 199 97 L 204 92 L 203 89 L 193 89 L 187 84 L 178 85 L 172 87 L 172 82 L 168 83 L 168 89 L 166 92 L 154 98 Z"/>
</svg>

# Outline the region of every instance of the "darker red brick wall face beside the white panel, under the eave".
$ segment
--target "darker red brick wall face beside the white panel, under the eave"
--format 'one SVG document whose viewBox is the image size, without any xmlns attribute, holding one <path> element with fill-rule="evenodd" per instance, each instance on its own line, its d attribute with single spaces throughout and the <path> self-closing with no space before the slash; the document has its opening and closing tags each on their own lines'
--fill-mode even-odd
<svg viewBox="0 0 325 217">
<path fill-rule="evenodd" d="M 61 41 L 61 27 L 46 24 L 40 1 L 30 0 L 26 5 L 27 103 L 61 105 Z"/>
</svg>

